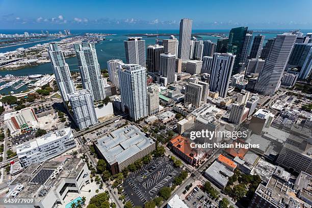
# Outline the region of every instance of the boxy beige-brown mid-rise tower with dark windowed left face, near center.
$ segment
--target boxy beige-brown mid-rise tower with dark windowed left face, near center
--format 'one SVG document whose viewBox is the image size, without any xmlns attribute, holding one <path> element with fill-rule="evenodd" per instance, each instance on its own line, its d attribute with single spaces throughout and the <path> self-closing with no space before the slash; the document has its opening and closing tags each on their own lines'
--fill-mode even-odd
<svg viewBox="0 0 312 208">
<path fill-rule="evenodd" d="M 189 105 L 190 103 L 194 108 L 198 108 L 201 105 L 203 86 L 196 83 L 186 84 L 184 103 Z"/>
</svg>

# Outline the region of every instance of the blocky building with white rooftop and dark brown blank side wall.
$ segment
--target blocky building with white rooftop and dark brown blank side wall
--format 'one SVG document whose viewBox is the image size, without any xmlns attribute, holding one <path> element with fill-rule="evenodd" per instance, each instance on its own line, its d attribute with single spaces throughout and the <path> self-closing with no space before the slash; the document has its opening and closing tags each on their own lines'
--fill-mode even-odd
<svg viewBox="0 0 312 208">
<path fill-rule="evenodd" d="M 257 112 L 251 117 L 249 123 L 249 129 L 257 135 L 261 135 L 261 132 L 265 130 L 265 128 L 269 128 L 271 123 L 273 122 L 274 114 L 272 114 L 268 110 L 259 109 Z"/>
</svg>

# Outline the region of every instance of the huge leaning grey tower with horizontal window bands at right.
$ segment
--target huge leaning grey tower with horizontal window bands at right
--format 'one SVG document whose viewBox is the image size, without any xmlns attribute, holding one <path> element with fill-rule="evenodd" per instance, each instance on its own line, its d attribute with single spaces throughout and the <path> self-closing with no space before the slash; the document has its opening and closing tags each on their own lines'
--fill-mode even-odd
<svg viewBox="0 0 312 208">
<path fill-rule="evenodd" d="M 284 33 L 274 38 L 269 56 L 254 86 L 256 92 L 272 95 L 279 88 L 280 79 L 295 44 L 296 37 L 296 35 Z"/>
</svg>

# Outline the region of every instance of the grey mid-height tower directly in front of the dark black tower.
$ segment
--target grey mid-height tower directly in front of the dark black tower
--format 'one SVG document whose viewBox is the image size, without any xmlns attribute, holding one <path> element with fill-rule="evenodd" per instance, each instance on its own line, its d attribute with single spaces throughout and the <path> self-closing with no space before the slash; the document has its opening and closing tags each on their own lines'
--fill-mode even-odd
<svg viewBox="0 0 312 208">
<path fill-rule="evenodd" d="M 167 77 L 167 84 L 174 83 L 175 72 L 175 55 L 174 54 L 162 54 L 160 56 L 160 75 Z"/>
</svg>

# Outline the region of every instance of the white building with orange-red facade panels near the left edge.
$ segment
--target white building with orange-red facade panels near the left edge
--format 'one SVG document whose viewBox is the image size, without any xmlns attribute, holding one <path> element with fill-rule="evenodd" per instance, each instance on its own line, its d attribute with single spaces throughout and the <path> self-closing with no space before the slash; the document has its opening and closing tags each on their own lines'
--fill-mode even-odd
<svg viewBox="0 0 312 208">
<path fill-rule="evenodd" d="M 38 118 L 32 107 L 23 108 L 4 115 L 4 122 L 10 130 L 11 135 L 18 135 L 31 131 L 38 125 Z"/>
</svg>

